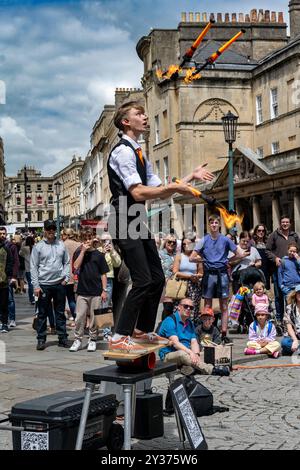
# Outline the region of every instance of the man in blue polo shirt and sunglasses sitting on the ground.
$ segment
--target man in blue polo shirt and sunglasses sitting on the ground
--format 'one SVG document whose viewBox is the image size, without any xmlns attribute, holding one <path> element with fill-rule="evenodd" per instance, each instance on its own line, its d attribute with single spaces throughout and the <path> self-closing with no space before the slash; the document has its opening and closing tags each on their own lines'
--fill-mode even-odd
<svg viewBox="0 0 300 470">
<path fill-rule="evenodd" d="M 194 371 L 205 375 L 229 375 L 228 367 L 214 367 L 201 361 L 200 346 L 190 319 L 193 308 L 192 299 L 182 299 L 175 314 L 169 315 L 162 322 L 158 334 L 168 338 L 171 345 L 160 349 L 160 359 L 164 362 L 175 362 L 186 375 Z"/>
</svg>

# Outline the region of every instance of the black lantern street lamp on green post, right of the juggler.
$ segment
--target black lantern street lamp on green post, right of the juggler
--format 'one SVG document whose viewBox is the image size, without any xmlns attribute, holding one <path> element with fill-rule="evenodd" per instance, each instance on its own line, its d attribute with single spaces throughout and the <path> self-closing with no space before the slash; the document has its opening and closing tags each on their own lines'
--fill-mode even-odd
<svg viewBox="0 0 300 470">
<path fill-rule="evenodd" d="M 222 117 L 225 142 L 229 145 L 228 153 L 228 188 L 229 188 L 229 211 L 234 211 L 234 181 L 233 181 L 233 150 L 232 144 L 236 141 L 236 129 L 238 117 L 228 111 Z"/>
</svg>

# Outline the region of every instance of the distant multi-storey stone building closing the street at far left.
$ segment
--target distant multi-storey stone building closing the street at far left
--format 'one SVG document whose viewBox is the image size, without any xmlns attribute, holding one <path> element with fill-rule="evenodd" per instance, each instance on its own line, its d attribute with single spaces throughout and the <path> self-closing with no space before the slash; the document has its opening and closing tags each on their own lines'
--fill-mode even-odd
<svg viewBox="0 0 300 470">
<path fill-rule="evenodd" d="M 24 167 L 18 171 L 17 176 L 6 177 L 5 212 L 7 224 L 25 228 L 27 218 L 29 229 L 42 228 L 44 220 L 54 217 L 53 178 L 41 176 L 41 172 L 33 167 Z"/>
</svg>

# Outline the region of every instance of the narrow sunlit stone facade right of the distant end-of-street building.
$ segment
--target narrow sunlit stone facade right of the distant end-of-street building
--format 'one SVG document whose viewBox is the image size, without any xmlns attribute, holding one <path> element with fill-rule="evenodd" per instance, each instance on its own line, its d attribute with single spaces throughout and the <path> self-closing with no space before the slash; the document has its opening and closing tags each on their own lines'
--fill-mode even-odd
<svg viewBox="0 0 300 470">
<path fill-rule="evenodd" d="M 73 155 L 71 163 L 53 176 L 53 188 L 55 194 L 54 217 L 57 219 L 57 207 L 61 223 L 64 227 L 72 227 L 77 230 L 80 214 L 80 172 L 84 165 L 81 157 Z M 57 205 L 57 187 L 59 196 Z"/>
</svg>

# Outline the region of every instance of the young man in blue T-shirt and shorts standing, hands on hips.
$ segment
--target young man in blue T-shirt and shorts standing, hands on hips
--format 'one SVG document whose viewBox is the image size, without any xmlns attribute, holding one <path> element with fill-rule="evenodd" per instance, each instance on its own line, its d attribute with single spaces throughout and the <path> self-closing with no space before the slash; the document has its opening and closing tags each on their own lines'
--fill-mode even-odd
<svg viewBox="0 0 300 470">
<path fill-rule="evenodd" d="M 191 254 L 190 261 L 204 264 L 204 276 L 202 280 L 202 297 L 204 308 L 212 307 L 214 298 L 220 301 L 222 312 L 222 342 L 229 343 L 227 335 L 228 326 L 228 298 L 229 277 L 227 272 L 228 254 L 232 251 L 235 260 L 244 256 L 244 250 L 235 245 L 230 238 L 220 233 L 220 217 L 211 215 L 208 219 L 210 234 L 205 235 L 196 245 Z"/>
</svg>

